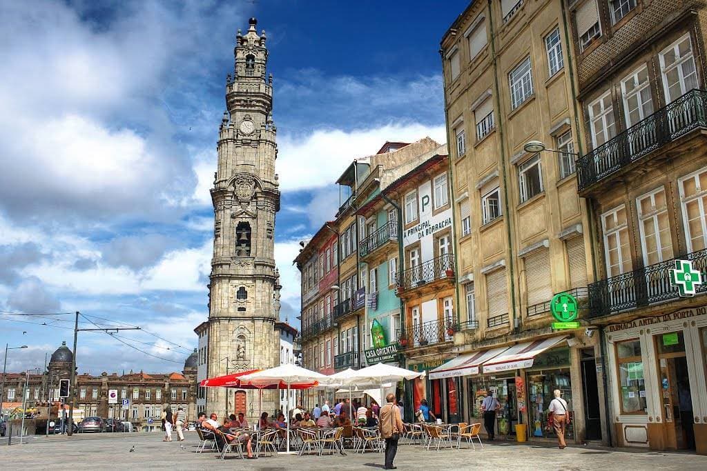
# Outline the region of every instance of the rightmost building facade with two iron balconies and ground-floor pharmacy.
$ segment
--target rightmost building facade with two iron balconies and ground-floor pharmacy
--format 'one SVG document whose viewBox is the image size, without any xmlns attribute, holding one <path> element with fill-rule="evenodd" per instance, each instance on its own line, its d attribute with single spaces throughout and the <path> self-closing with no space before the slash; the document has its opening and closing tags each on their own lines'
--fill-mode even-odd
<svg viewBox="0 0 707 471">
<path fill-rule="evenodd" d="M 588 317 L 605 342 L 609 432 L 619 446 L 707 454 L 707 288 L 681 296 L 670 275 L 676 261 L 707 273 L 707 11 L 588 0 L 569 17 L 586 136 L 578 190 L 595 234 Z"/>
</svg>

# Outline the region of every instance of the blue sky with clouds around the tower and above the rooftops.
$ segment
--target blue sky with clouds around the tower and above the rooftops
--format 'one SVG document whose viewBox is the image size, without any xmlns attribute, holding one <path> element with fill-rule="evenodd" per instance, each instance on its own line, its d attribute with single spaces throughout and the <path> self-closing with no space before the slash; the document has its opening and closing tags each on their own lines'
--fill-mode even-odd
<svg viewBox="0 0 707 471">
<path fill-rule="evenodd" d="M 296 323 L 291 261 L 334 214 L 346 164 L 386 140 L 445 140 L 439 40 L 466 6 L 2 2 L 0 310 L 78 310 L 161 338 L 121 334 L 156 358 L 81 333 L 81 372 L 181 369 L 208 314 L 223 85 L 255 16 L 274 75 L 281 314 Z M 10 371 L 71 343 L 71 316 L 53 318 L 0 315 L 0 341 L 29 346 Z"/>
</svg>

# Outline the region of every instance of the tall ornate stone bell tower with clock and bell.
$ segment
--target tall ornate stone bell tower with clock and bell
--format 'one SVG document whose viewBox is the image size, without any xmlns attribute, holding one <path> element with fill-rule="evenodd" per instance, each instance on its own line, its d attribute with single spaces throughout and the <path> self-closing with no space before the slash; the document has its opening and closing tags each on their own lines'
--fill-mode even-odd
<svg viewBox="0 0 707 471">
<path fill-rule="evenodd" d="M 226 78 L 226 111 L 218 129 L 214 203 L 214 257 L 209 285 L 208 375 L 277 366 L 279 318 L 274 260 L 275 213 L 280 192 L 272 120 L 272 76 L 266 76 L 265 32 L 250 18 L 235 37 L 235 70 Z M 277 391 L 265 390 L 262 411 L 278 406 Z M 257 390 L 207 388 L 208 412 L 245 412 L 255 419 Z"/>
</svg>

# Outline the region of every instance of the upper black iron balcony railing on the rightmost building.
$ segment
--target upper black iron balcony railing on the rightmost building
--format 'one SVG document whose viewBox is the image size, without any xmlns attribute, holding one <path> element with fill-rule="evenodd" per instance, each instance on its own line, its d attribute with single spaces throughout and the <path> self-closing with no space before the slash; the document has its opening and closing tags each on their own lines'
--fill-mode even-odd
<svg viewBox="0 0 707 471">
<path fill-rule="evenodd" d="M 579 190 L 592 186 L 662 145 L 698 127 L 707 127 L 707 92 L 690 90 L 682 97 L 577 161 Z"/>
</svg>

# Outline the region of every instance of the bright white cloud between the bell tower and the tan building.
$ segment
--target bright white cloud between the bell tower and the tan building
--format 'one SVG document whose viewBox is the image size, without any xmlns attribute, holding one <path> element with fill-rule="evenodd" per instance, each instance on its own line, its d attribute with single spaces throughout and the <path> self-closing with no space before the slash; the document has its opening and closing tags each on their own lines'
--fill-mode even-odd
<svg viewBox="0 0 707 471">
<path fill-rule="evenodd" d="M 447 141 L 444 126 L 423 124 L 387 124 L 356 131 L 322 129 L 304 138 L 281 135 L 276 164 L 280 189 L 302 190 L 334 184 L 355 158 L 376 153 L 385 141 L 414 142 L 425 136 L 438 143 Z"/>
</svg>

